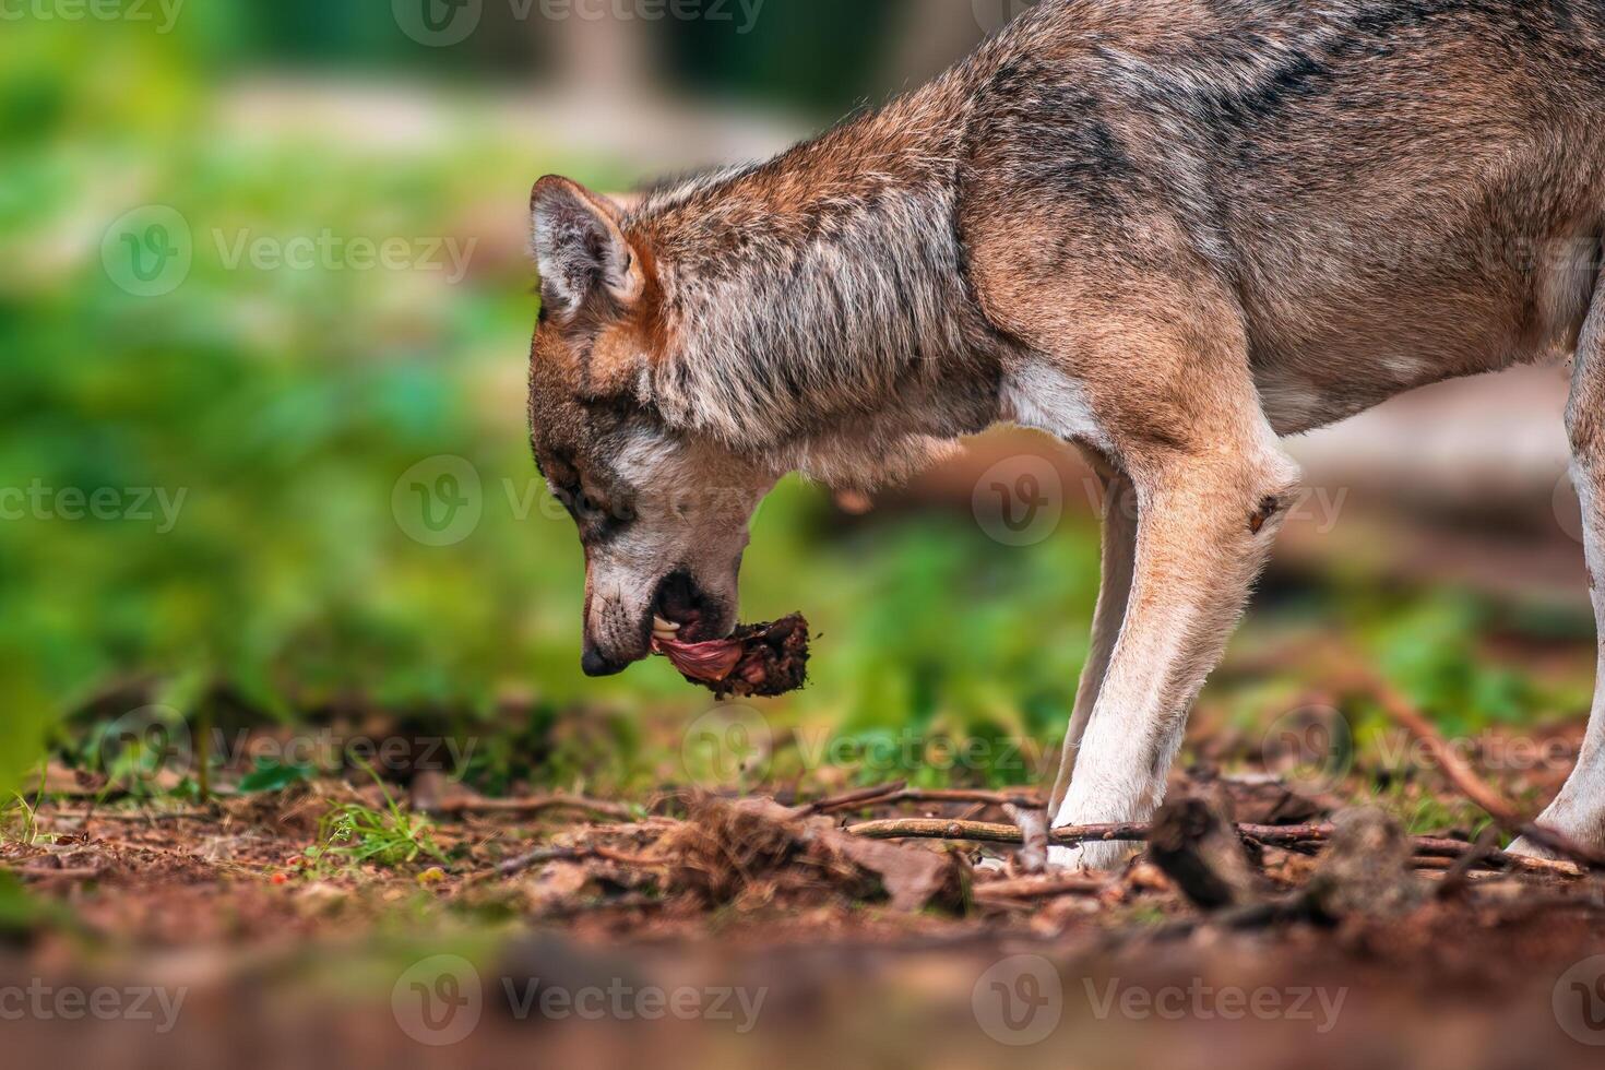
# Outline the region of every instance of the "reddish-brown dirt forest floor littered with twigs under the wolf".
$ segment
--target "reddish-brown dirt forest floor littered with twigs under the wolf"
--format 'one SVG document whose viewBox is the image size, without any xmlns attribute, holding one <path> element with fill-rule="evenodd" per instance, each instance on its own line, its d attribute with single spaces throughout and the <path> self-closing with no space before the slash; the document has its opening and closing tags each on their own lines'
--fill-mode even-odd
<svg viewBox="0 0 1605 1070">
<path fill-rule="evenodd" d="M 377 786 L 42 804 L 0 850 L 32 892 L 0 1015 L 22 1056 L 72 1065 L 1599 1065 L 1605 884 L 1581 869 L 1462 873 L 1366 818 L 1358 850 L 1241 841 L 1247 890 L 1201 905 L 1156 855 L 1043 876 L 1008 845 L 843 831 L 1011 820 L 1006 796 L 894 788 L 636 807 L 421 778 L 445 861 L 385 865 L 315 850 L 331 807 L 384 809 Z M 1359 821 L 1265 772 L 1194 765 L 1172 799 L 1244 828 Z M 50 1003 L 152 985 L 170 1020 Z M 8 1012 L 34 990 L 53 1012 Z"/>
</svg>

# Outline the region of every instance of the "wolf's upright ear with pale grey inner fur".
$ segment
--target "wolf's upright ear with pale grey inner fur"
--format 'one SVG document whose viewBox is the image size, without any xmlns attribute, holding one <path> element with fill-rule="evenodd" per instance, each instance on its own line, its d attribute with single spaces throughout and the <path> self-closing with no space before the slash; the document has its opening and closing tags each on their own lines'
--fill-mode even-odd
<svg viewBox="0 0 1605 1070">
<path fill-rule="evenodd" d="M 620 229 L 621 212 L 579 183 L 547 175 L 530 193 L 530 247 L 541 271 L 541 303 L 573 316 L 597 294 L 632 305 L 645 281 Z"/>
</svg>

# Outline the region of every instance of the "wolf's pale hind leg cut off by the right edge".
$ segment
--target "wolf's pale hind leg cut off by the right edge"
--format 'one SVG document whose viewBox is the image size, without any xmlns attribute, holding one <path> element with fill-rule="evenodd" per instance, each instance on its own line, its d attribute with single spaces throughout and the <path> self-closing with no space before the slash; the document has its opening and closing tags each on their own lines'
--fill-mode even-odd
<svg viewBox="0 0 1605 1070">
<path fill-rule="evenodd" d="M 1583 499 L 1589 594 L 1599 626 L 1599 677 L 1578 765 L 1538 823 L 1584 847 L 1605 850 L 1605 284 L 1595 289 L 1594 306 L 1578 342 L 1566 430 L 1571 436 L 1571 478 Z M 1525 839 L 1517 841 L 1512 850 L 1544 853 Z"/>
</svg>

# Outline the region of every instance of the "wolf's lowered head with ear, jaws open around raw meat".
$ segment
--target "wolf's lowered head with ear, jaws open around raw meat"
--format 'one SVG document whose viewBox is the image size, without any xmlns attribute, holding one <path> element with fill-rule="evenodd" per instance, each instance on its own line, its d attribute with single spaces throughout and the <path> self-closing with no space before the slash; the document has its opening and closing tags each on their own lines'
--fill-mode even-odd
<svg viewBox="0 0 1605 1070">
<path fill-rule="evenodd" d="M 618 205 L 563 178 L 531 194 L 541 324 L 530 351 L 536 464 L 586 552 L 583 666 L 647 656 L 653 618 L 679 638 L 735 627 L 748 521 L 778 473 L 674 428 L 650 382 L 674 361 L 653 249 Z"/>
</svg>

